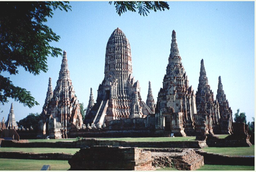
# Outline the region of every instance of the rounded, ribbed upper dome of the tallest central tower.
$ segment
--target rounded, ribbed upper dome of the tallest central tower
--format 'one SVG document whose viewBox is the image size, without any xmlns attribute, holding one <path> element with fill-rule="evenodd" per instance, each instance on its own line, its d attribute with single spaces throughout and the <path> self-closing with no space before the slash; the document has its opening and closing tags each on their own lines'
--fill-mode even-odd
<svg viewBox="0 0 256 172">
<path fill-rule="evenodd" d="M 123 31 L 116 28 L 108 39 L 105 56 L 105 78 L 114 74 L 125 80 L 133 72 L 131 47 Z"/>
</svg>

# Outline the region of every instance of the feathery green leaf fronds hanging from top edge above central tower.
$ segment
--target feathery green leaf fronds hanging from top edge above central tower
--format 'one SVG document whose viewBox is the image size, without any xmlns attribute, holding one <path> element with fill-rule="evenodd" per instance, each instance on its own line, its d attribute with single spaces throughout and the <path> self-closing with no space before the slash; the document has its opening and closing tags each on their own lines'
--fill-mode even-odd
<svg viewBox="0 0 256 172">
<path fill-rule="evenodd" d="M 111 5 L 112 1 L 109 1 L 109 4 Z M 157 10 L 170 9 L 168 3 L 164 1 L 114 1 L 114 5 L 119 16 L 127 10 L 136 12 L 138 9 L 140 15 L 148 16 L 150 10 L 156 12 Z"/>
</svg>

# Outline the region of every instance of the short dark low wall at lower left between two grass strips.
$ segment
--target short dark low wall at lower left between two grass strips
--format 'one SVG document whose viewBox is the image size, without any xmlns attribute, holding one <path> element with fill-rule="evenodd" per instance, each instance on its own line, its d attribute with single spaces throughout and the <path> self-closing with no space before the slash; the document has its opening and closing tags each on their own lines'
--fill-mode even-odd
<svg viewBox="0 0 256 172">
<path fill-rule="evenodd" d="M 0 152 L 0 158 L 9 159 L 69 160 L 72 156 L 73 154 L 67 153 Z"/>
</svg>

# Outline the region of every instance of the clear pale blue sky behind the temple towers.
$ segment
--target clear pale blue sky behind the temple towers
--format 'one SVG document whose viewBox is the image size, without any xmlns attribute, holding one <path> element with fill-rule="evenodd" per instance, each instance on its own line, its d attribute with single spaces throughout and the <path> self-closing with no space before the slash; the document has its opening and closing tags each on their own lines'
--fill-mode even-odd
<svg viewBox="0 0 256 172">
<path fill-rule="evenodd" d="M 218 76 L 233 110 L 245 112 L 247 121 L 254 116 L 254 2 L 168 2 L 170 10 L 153 12 L 143 17 L 138 12 L 121 16 L 108 2 L 70 2 L 72 11 L 54 12 L 47 24 L 61 36 L 51 45 L 67 52 L 68 67 L 80 103 L 88 105 L 90 88 L 94 100 L 104 78 L 106 45 L 111 33 L 119 27 L 129 40 L 133 76 L 139 80 L 141 96 L 146 101 L 151 81 L 155 102 L 166 73 L 172 30 L 176 31 L 179 54 L 196 91 L 203 58 L 208 83 L 215 99 Z M 16 120 L 29 113 L 41 113 L 48 78 L 53 89 L 58 79 L 62 57 L 48 58 L 48 72 L 34 76 L 24 69 L 10 76 L 16 86 L 31 91 L 40 105 L 33 108 L 9 99 L 0 105 L 7 119 L 13 102 Z M 4 73 L 4 76 L 9 76 Z"/>
</svg>

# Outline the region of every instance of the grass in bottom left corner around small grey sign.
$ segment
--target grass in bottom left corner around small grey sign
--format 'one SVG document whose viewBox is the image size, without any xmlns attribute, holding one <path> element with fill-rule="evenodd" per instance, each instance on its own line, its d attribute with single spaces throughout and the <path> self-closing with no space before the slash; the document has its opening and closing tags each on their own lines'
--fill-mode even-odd
<svg viewBox="0 0 256 172">
<path fill-rule="evenodd" d="M 50 165 L 51 170 L 68 170 L 67 160 L 32 160 L 0 158 L 1 170 L 40 170 L 43 165 Z"/>
</svg>

